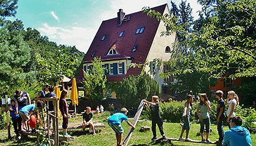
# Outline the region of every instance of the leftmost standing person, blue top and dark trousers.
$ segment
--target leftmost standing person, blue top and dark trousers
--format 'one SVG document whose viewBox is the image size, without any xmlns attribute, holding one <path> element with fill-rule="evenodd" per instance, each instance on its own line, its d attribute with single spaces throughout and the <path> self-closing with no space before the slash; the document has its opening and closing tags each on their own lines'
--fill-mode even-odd
<svg viewBox="0 0 256 146">
<path fill-rule="evenodd" d="M 21 131 L 21 122 L 22 119 L 20 117 L 20 114 L 15 114 L 16 108 L 15 108 L 15 101 L 11 100 L 11 105 L 12 107 L 9 109 L 10 111 L 10 116 L 12 118 L 12 124 L 14 128 L 14 132 L 16 134 L 16 138 L 20 139 L 20 131 Z M 18 126 L 18 127 L 17 127 Z"/>
</svg>

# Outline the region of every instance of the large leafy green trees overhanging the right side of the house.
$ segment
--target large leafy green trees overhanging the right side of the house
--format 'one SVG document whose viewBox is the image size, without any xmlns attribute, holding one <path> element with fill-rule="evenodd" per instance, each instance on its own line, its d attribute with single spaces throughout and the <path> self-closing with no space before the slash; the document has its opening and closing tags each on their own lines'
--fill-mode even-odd
<svg viewBox="0 0 256 146">
<path fill-rule="evenodd" d="M 191 58 L 174 52 L 176 59 L 190 62 L 193 70 L 208 73 L 212 78 L 252 77 L 256 75 L 256 1 L 199 1 L 203 5 L 197 28 L 186 33 L 183 25 L 175 24 L 171 16 L 144 8 L 149 16 L 163 21 L 168 28 L 164 35 L 182 33 L 190 44 Z M 205 16 L 205 17 L 204 17 Z M 206 17 L 207 16 L 207 17 Z M 176 50 L 179 51 L 179 50 Z M 179 55 L 179 56 L 177 56 Z M 172 71 L 186 73 L 185 68 L 176 68 L 177 62 L 171 62 Z"/>
</svg>

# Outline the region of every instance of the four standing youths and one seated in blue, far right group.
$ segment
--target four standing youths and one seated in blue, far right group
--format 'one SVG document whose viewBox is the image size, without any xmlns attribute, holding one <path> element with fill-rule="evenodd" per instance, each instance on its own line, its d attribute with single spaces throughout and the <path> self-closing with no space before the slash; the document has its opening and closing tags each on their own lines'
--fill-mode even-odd
<svg viewBox="0 0 256 146">
<path fill-rule="evenodd" d="M 235 108 L 239 104 L 238 95 L 236 95 L 235 91 L 229 91 L 227 93 L 227 101 L 226 104 L 223 99 L 223 91 L 216 91 L 216 98 L 218 98 L 217 105 L 217 130 L 219 134 L 219 139 L 216 141 L 217 144 L 223 145 L 252 145 L 251 136 L 249 131 L 246 128 L 241 127 L 242 119 L 235 115 Z M 190 130 L 190 111 L 193 104 L 193 97 L 191 95 L 187 95 L 187 102 L 184 105 L 183 111 L 183 127 L 180 133 L 180 140 L 191 141 L 188 138 L 189 130 Z M 227 105 L 227 110 L 225 114 L 225 108 Z M 200 133 L 201 133 L 201 142 L 211 142 L 209 139 L 209 131 L 210 131 L 210 114 L 211 103 L 207 98 L 205 93 L 201 94 L 200 102 L 197 103 L 197 116 L 200 122 Z M 223 121 L 227 118 L 227 123 L 229 123 L 230 130 L 227 130 L 224 134 L 223 130 Z M 205 138 L 204 138 L 204 127 L 205 127 Z M 186 130 L 186 138 L 182 138 L 184 131 Z M 230 134 L 236 133 L 236 134 Z M 235 136 L 236 135 L 236 136 Z M 241 143 L 243 142 L 243 143 Z"/>
</svg>

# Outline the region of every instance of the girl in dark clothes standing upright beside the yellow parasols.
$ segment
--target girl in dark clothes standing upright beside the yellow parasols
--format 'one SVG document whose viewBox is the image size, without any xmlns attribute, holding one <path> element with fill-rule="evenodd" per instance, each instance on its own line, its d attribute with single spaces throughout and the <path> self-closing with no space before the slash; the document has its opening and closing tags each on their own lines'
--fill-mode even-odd
<svg viewBox="0 0 256 146">
<path fill-rule="evenodd" d="M 60 95 L 59 108 L 60 112 L 63 116 L 62 128 L 63 128 L 63 136 L 69 136 L 66 132 L 66 128 L 68 128 L 68 104 L 66 103 L 66 97 L 68 96 L 67 90 L 62 90 L 62 94 Z"/>
</svg>

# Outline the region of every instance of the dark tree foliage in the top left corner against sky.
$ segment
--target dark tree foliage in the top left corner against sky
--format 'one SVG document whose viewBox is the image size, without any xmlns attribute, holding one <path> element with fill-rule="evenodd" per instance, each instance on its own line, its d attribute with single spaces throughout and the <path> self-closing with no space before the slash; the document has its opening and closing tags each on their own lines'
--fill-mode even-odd
<svg viewBox="0 0 256 146">
<path fill-rule="evenodd" d="M 2 0 L 0 1 L 0 23 L 5 19 L 5 17 L 15 16 L 16 9 L 18 6 L 16 5 L 18 0 Z"/>
</svg>

